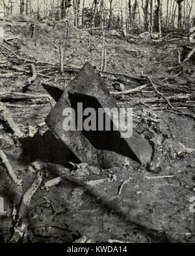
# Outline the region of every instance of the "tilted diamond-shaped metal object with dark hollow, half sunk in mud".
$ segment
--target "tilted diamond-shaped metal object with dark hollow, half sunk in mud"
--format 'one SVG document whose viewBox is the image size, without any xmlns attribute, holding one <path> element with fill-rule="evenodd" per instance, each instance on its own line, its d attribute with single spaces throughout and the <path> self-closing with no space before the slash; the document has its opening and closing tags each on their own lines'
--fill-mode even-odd
<svg viewBox="0 0 195 256">
<path fill-rule="evenodd" d="M 86 63 L 64 89 L 64 93 L 45 120 L 51 131 L 82 162 L 101 168 L 110 168 L 124 165 L 127 159 L 131 159 L 131 163 L 136 161 L 146 164 L 149 161 L 151 146 L 135 131 L 131 138 L 121 138 L 120 131 L 64 131 L 62 112 L 67 107 L 75 108 L 77 112 L 77 103 L 83 103 L 83 109 L 87 107 L 93 107 L 96 110 L 106 107 L 118 108 L 116 101 L 110 96 L 99 74 L 90 63 Z"/>
</svg>

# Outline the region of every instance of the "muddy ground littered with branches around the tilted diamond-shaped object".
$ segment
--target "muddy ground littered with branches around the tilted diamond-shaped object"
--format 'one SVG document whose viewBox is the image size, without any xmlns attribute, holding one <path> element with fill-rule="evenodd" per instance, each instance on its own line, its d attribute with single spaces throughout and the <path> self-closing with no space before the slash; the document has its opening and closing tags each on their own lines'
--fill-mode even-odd
<svg viewBox="0 0 195 256">
<path fill-rule="evenodd" d="M 38 163 L 43 181 L 29 205 L 27 232 L 18 242 L 73 242 L 83 236 L 91 242 L 195 242 L 195 215 L 190 211 L 190 198 L 195 197 L 194 63 L 178 65 L 178 50 L 187 37 L 173 34 L 128 42 L 106 35 L 107 71 L 150 76 L 180 112 L 149 84 L 136 93 L 113 95 L 120 106 L 133 107 L 134 129 L 149 141 L 153 155 L 146 166 L 130 161 L 121 168 L 99 170 L 86 164 L 72 168 L 73 154 L 44 123 L 55 102 L 41 83 L 64 88 L 77 71 L 70 67 L 80 68 L 86 61 L 100 69 L 101 33 L 69 27 L 67 71 L 59 74 L 59 43 L 66 40 L 66 24 L 38 24 L 32 38 L 26 22 L 4 25 L 5 39 L 18 39 L 0 45 L 0 97 L 25 136 L 17 138 L 1 120 L 0 150 L 23 182 L 15 185 L 0 166 L 6 212 L 0 216 L 0 241 L 12 236 L 13 208 L 18 209 L 31 187 Z M 31 76 L 29 60 L 40 76 L 23 93 Z M 101 74 L 110 93 L 142 85 L 127 76 Z M 58 176 L 58 185 L 43 187 Z"/>
</svg>

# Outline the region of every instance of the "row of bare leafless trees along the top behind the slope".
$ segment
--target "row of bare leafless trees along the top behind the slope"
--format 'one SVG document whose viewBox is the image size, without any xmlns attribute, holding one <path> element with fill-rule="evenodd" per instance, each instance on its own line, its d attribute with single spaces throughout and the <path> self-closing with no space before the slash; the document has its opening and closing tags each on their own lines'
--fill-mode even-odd
<svg viewBox="0 0 195 256">
<path fill-rule="evenodd" d="M 19 12 L 32 18 L 66 19 L 72 12 L 77 27 L 107 27 L 150 33 L 188 29 L 192 21 L 193 0 L 20 0 Z M 3 0 L 4 15 L 12 14 L 14 0 Z"/>
</svg>

